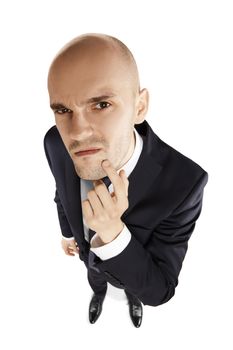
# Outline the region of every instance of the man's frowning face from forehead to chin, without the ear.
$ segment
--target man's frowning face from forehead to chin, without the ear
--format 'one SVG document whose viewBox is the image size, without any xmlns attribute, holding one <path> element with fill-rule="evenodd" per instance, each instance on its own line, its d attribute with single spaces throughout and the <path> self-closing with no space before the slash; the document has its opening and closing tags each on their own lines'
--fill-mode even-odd
<svg viewBox="0 0 233 350">
<path fill-rule="evenodd" d="M 96 55 L 94 63 L 90 56 L 54 68 L 48 89 L 56 126 L 76 173 L 97 180 L 106 176 L 104 159 L 118 170 L 131 158 L 134 124 L 142 117 L 140 94 L 133 94 L 125 68 L 111 55 Z M 90 148 L 99 151 L 76 154 Z"/>
</svg>

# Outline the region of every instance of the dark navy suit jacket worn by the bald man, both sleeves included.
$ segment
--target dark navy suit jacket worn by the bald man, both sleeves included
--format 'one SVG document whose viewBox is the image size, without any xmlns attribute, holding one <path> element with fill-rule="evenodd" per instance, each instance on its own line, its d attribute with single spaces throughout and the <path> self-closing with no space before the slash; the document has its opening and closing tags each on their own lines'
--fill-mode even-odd
<svg viewBox="0 0 233 350">
<path fill-rule="evenodd" d="M 162 141 L 146 120 L 134 127 L 143 138 L 143 149 L 128 177 L 129 207 L 121 216 L 132 237 L 113 258 L 95 255 L 95 265 L 108 282 L 127 289 L 144 305 L 157 306 L 175 294 L 208 173 Z M 85 262 L 90 244 L 84 238 L 80 178 L 56 125 L 46 132 L 44 149 L 55 178 L 62 234 L 75 237 Z"/>
</svg>

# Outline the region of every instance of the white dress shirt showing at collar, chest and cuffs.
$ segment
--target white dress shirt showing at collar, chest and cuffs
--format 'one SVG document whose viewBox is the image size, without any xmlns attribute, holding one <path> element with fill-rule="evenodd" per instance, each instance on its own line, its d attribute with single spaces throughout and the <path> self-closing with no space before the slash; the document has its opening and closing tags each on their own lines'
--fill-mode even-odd
<svg viewBox="0 0 233 350">
<path fill-rule="evenodd" d="M 135 168 L 143 147 L 143 139 L 135 128 L 134 128 L 134 135 L 135 135 L 135 147 L 134 147 L 133 154 L 131 158 L 128 160 L 128 162 L 124 164 L 122 168 L 117 170 L 117 173 L 119 174 L 121 169 L 124 169 L 127 177 L 129 177 L 130 173 Z M 84 201 L 87 198 L 87 193 L 91 189 L 93 189 L 93 183 L 91 180 L 80 179 L 80 192 L 81 192 L 82 201 Z M 110 193 L 113 192 L 112 184 L 110 184 L 110 186 L 108 187 L 108 190 Z M 89 242 L 89 228 L 87 227 L 84 218 L 83 218 L 83 224 L 84 224 L 83 226 L 84 226 L 85 239 Z M 64 236 L 63 238 L 68 240 L 73 239 L 73 237 L 66 238 Z M 124 225 L 124 228 L 121 231 L 121 233 L 113 241 L 107 244 L 104 244 L 102 246 L 99 245 L 98 236 L 97 234 L 95 234 L 91 239 L 90 249 L 101 260 L 106 260 L 120 254 L 129 244 L 130 239 L 131 239 L 131 233 L 128 230 L 127 226 Z"/>
</svg>

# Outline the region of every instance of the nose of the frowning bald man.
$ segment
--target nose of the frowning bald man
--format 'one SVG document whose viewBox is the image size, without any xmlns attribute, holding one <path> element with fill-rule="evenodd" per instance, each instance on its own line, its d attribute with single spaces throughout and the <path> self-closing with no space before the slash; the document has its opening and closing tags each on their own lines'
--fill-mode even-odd
<svg viewBox="0 0 233 350">
<path fill-rule="evenodd" d="M 87 140 L 93 134 L 90 122 L 87 120 L 83 112 L 73 112 L 69 136 L 73 140 Z"/>
</svg>

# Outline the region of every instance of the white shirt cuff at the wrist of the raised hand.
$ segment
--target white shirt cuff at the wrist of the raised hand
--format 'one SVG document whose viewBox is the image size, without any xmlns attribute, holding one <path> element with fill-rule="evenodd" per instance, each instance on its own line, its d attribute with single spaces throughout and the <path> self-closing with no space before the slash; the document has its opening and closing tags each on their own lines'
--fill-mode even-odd
<svg viewBox="0 0 233 350">
<path fill-rule="evenodd" d="M 95 234 L 91 239 L 90 250 L 95 253 L 101 260 L 107 260 L 113 258 L 114 256 L 120 254 L 129 244 L 131 240 L 131 233 L 127 226 L 124 225 L 121 233 L 111 242 L 97 247 L 92 247 L 92 244 L 98 245 L 98 236 Z"/>
</svg>

